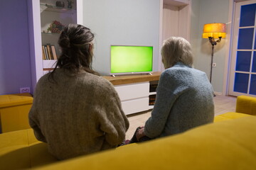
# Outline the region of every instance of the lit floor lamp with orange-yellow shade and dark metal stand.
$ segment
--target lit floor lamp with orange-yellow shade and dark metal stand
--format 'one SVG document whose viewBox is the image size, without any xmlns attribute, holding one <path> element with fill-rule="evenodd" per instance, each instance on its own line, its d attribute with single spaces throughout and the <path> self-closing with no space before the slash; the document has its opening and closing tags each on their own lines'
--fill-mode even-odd
<svg viewBox="0 0 256 170">
<path fill-rule="evenodd" d="M 226 25 L 225 23 L 208 23 L 203 26 L 202 38 L 208 38 L 212 45 L 211 62 L 210 62 L 210 83 L 213 74 L 213 50 L 214 45 L 221 41 L 221 38 L 225 38 Z M 214 40 L 218 38 L 218 40 Z"/>
</svg>

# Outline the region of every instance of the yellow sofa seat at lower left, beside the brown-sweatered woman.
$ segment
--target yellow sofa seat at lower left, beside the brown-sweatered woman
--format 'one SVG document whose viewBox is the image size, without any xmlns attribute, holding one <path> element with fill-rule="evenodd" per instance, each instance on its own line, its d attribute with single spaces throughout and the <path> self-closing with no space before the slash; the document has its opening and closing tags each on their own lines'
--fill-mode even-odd
<svg viewBox="0 0 256 170">
<path fill-rule="evenodd" d="M 0 169 L 28 169 L 57 161 L 47 145 L 36 140 L 32 129 L 0 135 Z"/>
</svg>

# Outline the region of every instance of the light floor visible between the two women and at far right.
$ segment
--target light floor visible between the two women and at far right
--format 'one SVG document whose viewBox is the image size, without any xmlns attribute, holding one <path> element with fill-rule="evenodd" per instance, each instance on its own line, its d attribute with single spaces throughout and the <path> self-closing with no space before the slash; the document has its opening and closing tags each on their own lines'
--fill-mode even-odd
<svg viewBox="0 0 256 170">
<path fill-rule="evenodd" d="M 215 115 L 220 115 L 226 112 L 235 111 L 236 97 L 233 96 L 215 96 Z M 150 117 L 151 111 L 135 113 L 132 115 L 127 115 L 129 120 L 129 130 L 127 131 L 126 139 L 131 139 L 134 135 L 134 131 L 137 127 L 144 125 L 146 120 Z"/>
</svg>

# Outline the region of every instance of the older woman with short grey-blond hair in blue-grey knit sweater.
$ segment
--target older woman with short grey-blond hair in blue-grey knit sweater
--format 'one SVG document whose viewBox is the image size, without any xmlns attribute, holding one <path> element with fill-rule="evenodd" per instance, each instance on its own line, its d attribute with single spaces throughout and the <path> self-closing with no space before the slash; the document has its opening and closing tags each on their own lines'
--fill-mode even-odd
<svg viewBox="0 0 256 170">
<path fill-rule="evenodd" d="M 192 68 L 191 44 L 184 38 L 168 38 L 161 55 L 165 70 L 156 89 L 151 117 L 137 128 L 129 143 L 174 135 L 213 122 L 213 87 L 206 73 Z"/>
</svg>

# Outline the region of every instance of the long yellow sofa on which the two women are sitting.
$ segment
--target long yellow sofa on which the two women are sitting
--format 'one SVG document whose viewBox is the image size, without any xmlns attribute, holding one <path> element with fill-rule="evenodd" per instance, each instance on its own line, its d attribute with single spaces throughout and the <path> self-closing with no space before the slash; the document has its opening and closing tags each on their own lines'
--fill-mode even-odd
<svg viewBox="0 0 256 170">
<path fill-rule="evenodd" d="M 187 132 L 58 161 L 33 130 L 0 135 L 0 169 L 256 169 L 256 98 Z M 240 110 L 242 109 L 242 110 Z M 250 114 L 250 115 L 249 115 Z"/>
</svg>

